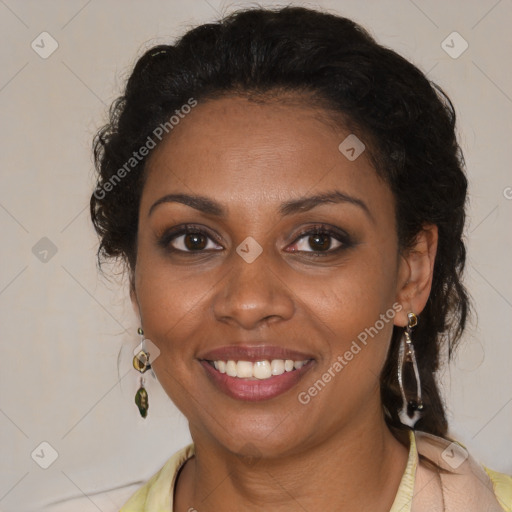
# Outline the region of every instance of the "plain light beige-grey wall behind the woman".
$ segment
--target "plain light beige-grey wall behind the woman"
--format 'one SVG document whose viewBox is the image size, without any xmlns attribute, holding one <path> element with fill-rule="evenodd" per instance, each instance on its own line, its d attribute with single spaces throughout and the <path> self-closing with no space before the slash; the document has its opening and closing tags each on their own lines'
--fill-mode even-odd
<svg viewBox="0 0 512 512">
<path fill-rule="evenodd" d="M 428 72 L 456 106 L 471 187 L 466 282 L 479 322 L 443 372 L 443 389 L 452 435 L 488 466 L 511 473 L 512 2 L 290 3 L 360 22 Z M 0 0 L 4 512 L 80 496 L 48 510 L 117 510 L 189 441 L 185 419 L 156 381 L 148 385 L 148 419 L 133 403 L 138 325 L 126 284 L 105 280 L 95 267 L 90 145 L 145 48 L 248 5 Z M 43 31 L 59 45 L 47 59 L 31 48 Z M 469 44 L 457 59 L 441 47 L 453 31 Z M 45 247 L 32 250 L 43 237 L 57 248 L 46 262 Z M 50 460 L 43 441 L 58 453 L 46 470 L 35 462 Z"/>
</svg>

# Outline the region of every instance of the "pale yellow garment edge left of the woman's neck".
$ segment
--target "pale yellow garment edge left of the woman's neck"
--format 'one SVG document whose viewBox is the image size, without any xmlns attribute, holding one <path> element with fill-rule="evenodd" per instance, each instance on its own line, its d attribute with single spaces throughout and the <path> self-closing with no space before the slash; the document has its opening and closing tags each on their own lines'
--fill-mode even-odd
<svg viewBox="0 0 512 512">
<path fill-rule="evenodd" d="M 194 455 L 194 445 L 182 448 L 123 505 L 119 512 L 172 512 L 174 483 L 181 466 Z"/>
</svg>

